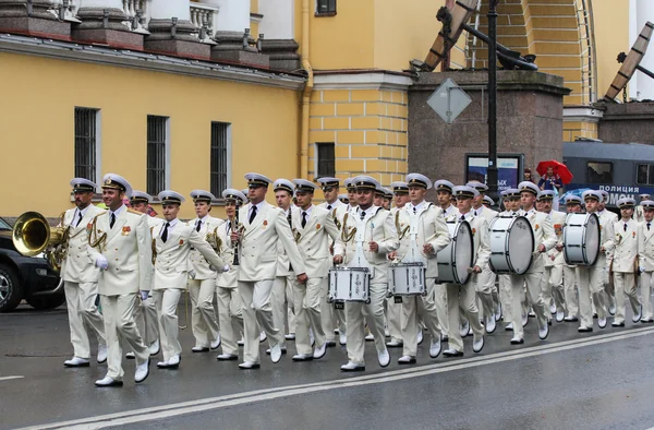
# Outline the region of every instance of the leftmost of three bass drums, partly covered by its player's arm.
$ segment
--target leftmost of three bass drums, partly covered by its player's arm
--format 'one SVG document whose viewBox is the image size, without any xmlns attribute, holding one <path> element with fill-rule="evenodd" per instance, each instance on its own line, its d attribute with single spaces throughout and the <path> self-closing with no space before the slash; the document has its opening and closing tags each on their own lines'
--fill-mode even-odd
<svg viewBox="0 0 654 430">
<path fill-rule="evenodd" d="M 438 284 L 464 285 L 470 279 L 470 267 L 474 265 L 472 229 L 470 224 L 447 223 L 450 242 L 436 254 Z"/>
</svg>

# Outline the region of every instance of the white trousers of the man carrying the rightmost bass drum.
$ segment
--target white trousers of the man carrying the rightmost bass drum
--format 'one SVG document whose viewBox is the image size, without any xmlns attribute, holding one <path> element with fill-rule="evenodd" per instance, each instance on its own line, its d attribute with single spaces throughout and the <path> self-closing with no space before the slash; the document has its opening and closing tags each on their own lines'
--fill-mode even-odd
<svg viewBox="0 0 654 430">
<path fill-rule="evenodd" d="M 604 290 L 607 279 L 606 270 L 606 258 L 602 254 L 592 266 L 577 266 L 580 325 L 586 327 L 593 326 L 593 307 L 591 306 L 591 300 L 595 307 L 595 312 L 597 312 L 597 318 L 604 319 L 608 314 L 606 292 Z"/>
</svg>

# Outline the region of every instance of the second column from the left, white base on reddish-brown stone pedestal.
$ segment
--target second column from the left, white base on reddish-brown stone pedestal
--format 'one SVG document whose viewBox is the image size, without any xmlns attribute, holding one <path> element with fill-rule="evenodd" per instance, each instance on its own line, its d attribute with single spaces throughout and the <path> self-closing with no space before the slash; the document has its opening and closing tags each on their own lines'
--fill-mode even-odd
<svg viewBox="0 0 654 430">
<path fill-rule="evenodd" d="M 143 50 L 143 35 L 131 32 L 122 0 L 81 0 L 77 17 L 73 39 Z"/>
</svg>

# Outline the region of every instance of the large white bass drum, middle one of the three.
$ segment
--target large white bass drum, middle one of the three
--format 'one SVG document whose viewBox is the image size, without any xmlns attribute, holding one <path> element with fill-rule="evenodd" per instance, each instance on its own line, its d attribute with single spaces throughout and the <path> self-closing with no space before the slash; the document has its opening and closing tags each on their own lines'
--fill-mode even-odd
<svg viewBox="0 0 654 430">
<path fill-rule="evenodd" d="M 523 275 L 532 263 L 535 239 L 524 216 L 498 216 L 491 222 L 491 268 Z"/>
</svg>

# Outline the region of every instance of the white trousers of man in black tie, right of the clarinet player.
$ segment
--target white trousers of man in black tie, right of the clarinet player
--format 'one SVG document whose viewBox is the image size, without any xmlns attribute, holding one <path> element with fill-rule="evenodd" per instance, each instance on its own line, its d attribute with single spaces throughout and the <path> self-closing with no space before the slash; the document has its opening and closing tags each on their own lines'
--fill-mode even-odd
<svg viewBox="0 0 654 430">
<path fill-rule="evenodd" d="M 283 333 L 272 322 L 270 294 L 274 283 L 274 279 L 239 280 L 239 292 L 243 299 L 243 361 L 259 362 L 261 330 L 266 332 L 270 347 L 282 345 Z"/>
</svg>

